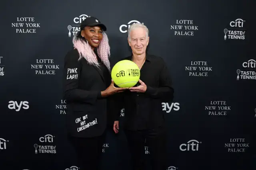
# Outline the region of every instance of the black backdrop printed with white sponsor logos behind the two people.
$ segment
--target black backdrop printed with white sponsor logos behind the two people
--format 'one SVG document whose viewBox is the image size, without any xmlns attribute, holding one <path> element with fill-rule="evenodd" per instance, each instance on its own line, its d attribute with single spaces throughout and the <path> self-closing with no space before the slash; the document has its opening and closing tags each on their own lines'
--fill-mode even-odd
<svg viewBox="0 0 256 170">
<path fill-rule="evenodd" d="M 0 4 L 0 170 L 77 170 L 66 139 L 62 68 L 73 33 L 88 16 L 108 27 L 112 62 L 130 54 L 125 31 L 136 21 L 150 30 L 148 52 L 166 61 L 175 90 L 173 103 L 163 104 L 167 170 L 256 168 L 255 12 L 249 0 Z M 125 110 L 120 116 L 122 123 Z M 108 131 L 102 170 L 130 170 L 126 144 L 122 130 L 117 136 Z"/>
</svg>

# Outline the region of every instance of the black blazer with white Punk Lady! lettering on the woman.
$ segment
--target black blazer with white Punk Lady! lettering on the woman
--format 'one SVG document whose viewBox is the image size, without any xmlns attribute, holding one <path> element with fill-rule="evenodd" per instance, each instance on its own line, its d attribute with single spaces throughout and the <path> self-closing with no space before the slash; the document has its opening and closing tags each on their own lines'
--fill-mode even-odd
<svg viewBox="0 0 256 170">
<path fill-rule="evenodd" d="M 79 59 L 77 49 L 69 51 L 64 63 L 64 100 L 68 133 L 75 137 L 96 137 L 106 129 L 107 98 L 101 97 L 110 80 L 102 71 Z"/>
</svg>

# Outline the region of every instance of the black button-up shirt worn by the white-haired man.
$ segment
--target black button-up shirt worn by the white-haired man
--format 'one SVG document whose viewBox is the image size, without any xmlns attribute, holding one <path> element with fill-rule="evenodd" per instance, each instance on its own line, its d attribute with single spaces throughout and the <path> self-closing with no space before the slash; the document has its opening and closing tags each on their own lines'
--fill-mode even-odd
<svg viewBox="0 0 256 170">
<path fill-rule="evenodd" d="M 132 56 L 122 60 L 132 60 Z M 140 70 L 140 80 L 147 86 L 145 93 L 129 90 L 115 95 L 116 120 L 124 108 L 124 128 L 129 130 L 153 129 L 164 123 L 162 102 L 173 99 L 174 90 L 169 70 L 161 57 L 147 55 Z M 135 86 L 139 86 L 137 83 Z"/>
</svg>

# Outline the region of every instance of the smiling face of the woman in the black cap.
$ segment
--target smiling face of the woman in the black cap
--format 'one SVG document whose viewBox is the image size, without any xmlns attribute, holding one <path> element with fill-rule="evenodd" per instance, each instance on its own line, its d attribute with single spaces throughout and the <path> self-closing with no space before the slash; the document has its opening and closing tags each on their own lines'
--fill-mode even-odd
<svg viewBox="0 0 256 170">
<path fill-rule="evenodd" d="M 99 26 L 95 27 L 84 27 L 84 29 L 81 31 L 82 37 L 84 37 L 90 46 L 93 48 L 96 48 L 100 45 L 100 41 L 102 40 L 102 29 Z"/>
</svg>

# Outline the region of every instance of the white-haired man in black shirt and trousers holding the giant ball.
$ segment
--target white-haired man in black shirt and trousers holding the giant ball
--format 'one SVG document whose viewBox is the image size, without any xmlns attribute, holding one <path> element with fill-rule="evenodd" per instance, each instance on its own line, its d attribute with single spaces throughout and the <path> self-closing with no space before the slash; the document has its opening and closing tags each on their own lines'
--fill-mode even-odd
<svg viewBox="0 0 256 170">
<path fill-rule="evenodd" d="M 132 155 L 133 170 L 144 170 L 145 141 L 150 151 L 153 170 L 166 170 L 166 127 L 162 102 L 170 102 L 174 90 L 165 61 L 149 55 L 148 28 L 134 23 L 128 29 L 128 43 L 132 55 L 130 60 L 140 68 L 140 80 L 134 87 L 116 94 L 115 120 L 113 130 L 119 131 L 120 109 L 125 109 L 124 133 Z"/>
</svg>

